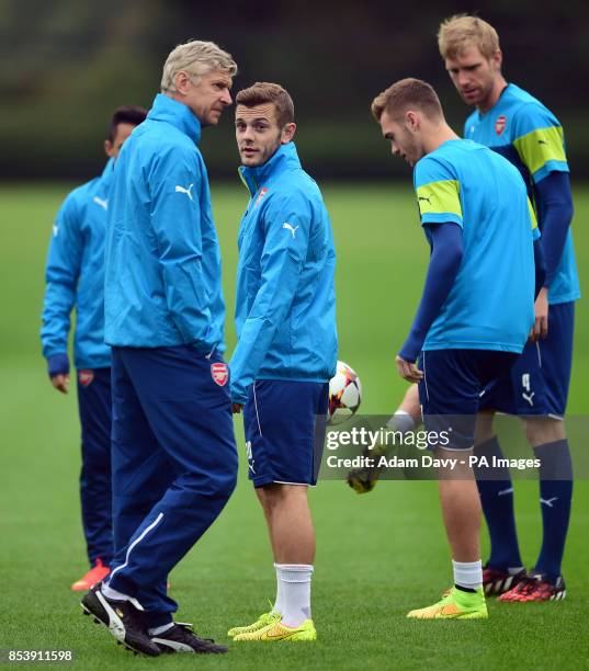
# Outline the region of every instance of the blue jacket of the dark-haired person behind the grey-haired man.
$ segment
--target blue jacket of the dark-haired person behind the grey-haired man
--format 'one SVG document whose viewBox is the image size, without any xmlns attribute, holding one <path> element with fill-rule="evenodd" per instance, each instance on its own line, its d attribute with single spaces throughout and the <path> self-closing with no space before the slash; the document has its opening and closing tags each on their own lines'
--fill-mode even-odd
<svg viewBox="0 0 589 671">
<path fill-rule="evenodd" d="M 73 361 L 78 368 L 111 365 L 104 344 L 104 236 L 113 161 L 101 177 L 75 189 L 53 225 L 41 341 L 45 359 L 66 354 L 76 306 Z"/>
</svg>

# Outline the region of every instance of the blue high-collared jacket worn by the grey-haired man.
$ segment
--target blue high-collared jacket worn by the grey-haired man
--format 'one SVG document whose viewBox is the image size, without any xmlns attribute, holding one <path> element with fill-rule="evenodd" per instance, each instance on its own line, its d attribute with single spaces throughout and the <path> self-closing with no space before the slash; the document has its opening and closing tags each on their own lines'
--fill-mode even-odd
<svg viewBox="0 0 589 671">
<path fill-rule="evenodd" d="M 200 138 L 191 110 L 158 94 L 123 145 L 106 238 L 111 345 L 224 350 L 220 253 Z"/>
</svg>

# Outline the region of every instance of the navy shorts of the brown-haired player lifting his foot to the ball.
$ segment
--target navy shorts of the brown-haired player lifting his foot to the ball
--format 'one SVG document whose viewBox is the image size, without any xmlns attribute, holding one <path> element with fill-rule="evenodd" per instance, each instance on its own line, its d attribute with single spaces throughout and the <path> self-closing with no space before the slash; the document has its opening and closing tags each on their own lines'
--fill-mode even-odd
<svg viewBox="0 0 589 671">
<path fill-rule="evenodd" d="M 419 402 L 426 431 L 448 432 L 445 450 L 469 450 L 475 442 L 480 394 L 498 374 L 508 374 L 518 359 L 494 350 L 428 350 L 421 352 Z M 432 447 L 437 446 L 434 444 Z"/>
</svg>

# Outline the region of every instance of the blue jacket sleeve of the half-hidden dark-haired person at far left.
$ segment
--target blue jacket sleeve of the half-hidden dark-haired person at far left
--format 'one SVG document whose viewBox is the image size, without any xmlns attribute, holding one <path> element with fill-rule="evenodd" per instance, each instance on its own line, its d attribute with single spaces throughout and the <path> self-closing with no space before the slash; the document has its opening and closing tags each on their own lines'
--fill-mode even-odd
<svg viewBox="0 0 589 671">
<path fill-rule="evenodd" d="M 82 251 L 79 206 L 70 194 L 55 218 L 45 269 L 41 328 L 45 359 L 67 353 L 70 314 L 76 305 Z"/>
</svg>

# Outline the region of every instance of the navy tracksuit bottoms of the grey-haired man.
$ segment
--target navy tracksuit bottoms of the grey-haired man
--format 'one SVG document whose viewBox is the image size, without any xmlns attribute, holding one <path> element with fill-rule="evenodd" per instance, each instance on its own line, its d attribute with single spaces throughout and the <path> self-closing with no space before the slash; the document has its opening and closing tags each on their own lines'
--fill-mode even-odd
<svg viewBox="0 0 589 671">
<path fill-rule="evenodd" d="M 112 349 L 115 556 L 110 587 L 148 626 L 171 619 L 169 571 L 215 521 L 237 480 L 228 368 L 190 345 Z"/>
</svg>

